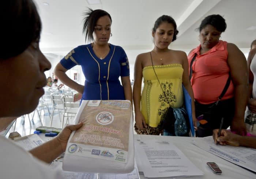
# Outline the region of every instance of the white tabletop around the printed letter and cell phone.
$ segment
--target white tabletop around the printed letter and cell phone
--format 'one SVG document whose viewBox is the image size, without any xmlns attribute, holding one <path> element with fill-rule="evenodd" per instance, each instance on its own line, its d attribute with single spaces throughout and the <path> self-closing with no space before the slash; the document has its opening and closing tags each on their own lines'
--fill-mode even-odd
<svg viewBox="0 0 256 179">
<path fill-rule="evenodd" d="M 134 135 L 134 142 L 138 142 L 139 138 L 147 139 L 157 139 L 157 140 L 170 140 L 176 145 L 184 154 L 191 160 L 202 172 L 203 176 L 191 176 L 191 177 L 170 177 L 170 178 L 198 178 L 198 179 L 256 179 L 256 174 L 251 171 L 248 171 L 238 165 L 230 163 L 220 157 L 217 157 L 203 149 L 198 148 L 192 144 L 192 140 L 199 142 L 201 138 L 199 137 L 173 137 L 173 136 L 153 136 L 153 135 Z M 135 151 L 135 160 L 136 160 L 136 151 Z M 222 170 L 222 174 L 214 174 L 211 169 L 207 166 L 206 162 L 212 161 L 219 165 L 219 168 Z M 143 174 L 140 174 L 140 178 L 144 179 Z"/>
</svg>

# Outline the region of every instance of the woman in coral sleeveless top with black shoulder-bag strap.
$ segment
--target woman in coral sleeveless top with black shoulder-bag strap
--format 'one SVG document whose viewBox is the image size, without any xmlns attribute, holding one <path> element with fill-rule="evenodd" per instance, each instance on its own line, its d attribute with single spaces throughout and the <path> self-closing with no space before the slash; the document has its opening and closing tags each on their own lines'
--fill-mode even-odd
<svg viewBox="0 0 256 179">
<path fill-rule="evenodd" d="M 225 19 L 209 15 L 199 27 L 200 45 L 188 55 L 189 74 L 195 97 L 198 137 L 211 136 L 212 130 L 230 126 L 245 134 L 248 71 L 244 54 L 233 43 L 221 41 Z M 231 80 L 230 80 L 231 79 Z"/>
</svg>

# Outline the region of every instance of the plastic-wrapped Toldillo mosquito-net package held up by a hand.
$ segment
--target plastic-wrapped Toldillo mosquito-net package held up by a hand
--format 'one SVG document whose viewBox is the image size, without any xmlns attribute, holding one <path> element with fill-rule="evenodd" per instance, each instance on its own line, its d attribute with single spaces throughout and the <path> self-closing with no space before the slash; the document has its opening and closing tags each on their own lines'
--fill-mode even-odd
<svg viewBox="0 0 256 179">
<path fill-rule="evenodd" d="M 128 173 L 134 169 L 132 106 L 128 100 L 83 100 L 69 137 L 63 170 Z"/>
</svg>

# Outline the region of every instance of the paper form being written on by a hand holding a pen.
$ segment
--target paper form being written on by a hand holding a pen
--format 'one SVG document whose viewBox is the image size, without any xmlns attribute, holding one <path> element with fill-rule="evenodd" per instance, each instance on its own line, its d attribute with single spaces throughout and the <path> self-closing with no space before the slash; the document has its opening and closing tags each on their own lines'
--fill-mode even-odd
<svg viewBox="0 0 256 179">
<path fill-rule="evenodd" d="M 256 172 L 255 149 L 242 146 L 216 145 L 212 136 L 202 138 L 200 143 L 193 141 L 193 144 L 222 159 Z"/>
</svg>

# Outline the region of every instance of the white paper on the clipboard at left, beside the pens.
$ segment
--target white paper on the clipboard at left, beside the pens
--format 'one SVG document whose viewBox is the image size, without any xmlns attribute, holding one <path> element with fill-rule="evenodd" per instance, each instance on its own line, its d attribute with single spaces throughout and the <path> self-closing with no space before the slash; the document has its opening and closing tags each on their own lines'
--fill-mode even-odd
<svg viewBox="0 0 256 179">
<path fill-rule="evenodd" d="M 27 138 L 24 138 L 19 141 L 15 141 L 16 145 L 21 146 L 24 150 L 29 151 L 38 145 L 41 145 L 44 143 L 41 137 L 39 137 L 37 134 L 31 134 L 26 136 Z"/>
</svg>

